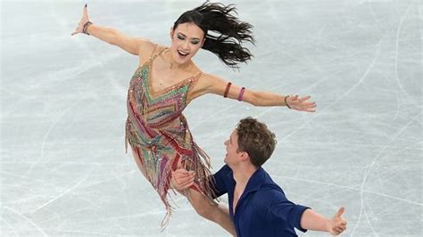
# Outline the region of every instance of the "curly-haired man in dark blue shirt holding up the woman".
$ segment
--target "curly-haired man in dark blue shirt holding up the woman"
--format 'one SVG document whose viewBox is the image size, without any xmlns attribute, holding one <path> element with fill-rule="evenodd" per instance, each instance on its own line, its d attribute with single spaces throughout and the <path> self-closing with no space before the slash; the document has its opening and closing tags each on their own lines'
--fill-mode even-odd
<svg viewBox="0 0 423 237">
<path fill-rule="evenodd" d="M 270 158 L 276 146 L 275 135 L 268 127 L 251 117 L 241 119 L 225 142 L 227 154 L 223 168 L 213 175 L 216 198 L 228 193 L 229 214 L 238 237 L 297 236 L 294 228 L 339 234 L 346 229 L 339 208 L 331 219 L 311 208 L 286 199 L 261 165 Z M 172 184 L 184 191 L 194 184 L 194 172 L 178 169 Z"/>
</svg>

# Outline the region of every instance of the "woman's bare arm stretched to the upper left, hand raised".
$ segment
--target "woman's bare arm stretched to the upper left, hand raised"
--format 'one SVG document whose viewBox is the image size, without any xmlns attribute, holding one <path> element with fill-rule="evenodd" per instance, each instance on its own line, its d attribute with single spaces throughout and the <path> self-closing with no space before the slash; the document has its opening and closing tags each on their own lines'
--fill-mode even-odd
<svg viewBox="0 0 423 237">
<path fill-rule="evenodd" d="M 82 10 L 82 17 L 79 20 L 78 28 L 71 35 L 73 36 L 79 33 L 89 34 L 111 45 L 117 45 L 134 55 L 150 52 L 153 47 L 153 43 L 144 38 L 129 37 L 122 34 L 118 29 L 102 27 L 91 23 L 88 18 L 87 4 Z"/>
</svg>

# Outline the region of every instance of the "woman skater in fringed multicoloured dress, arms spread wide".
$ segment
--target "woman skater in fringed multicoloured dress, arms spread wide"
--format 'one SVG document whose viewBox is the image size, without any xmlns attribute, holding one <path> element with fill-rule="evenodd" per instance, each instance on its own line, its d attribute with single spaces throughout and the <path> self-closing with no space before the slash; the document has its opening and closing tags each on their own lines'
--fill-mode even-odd
<svg viewBox="0 0 423 237">
<path fill-rule="evenodd" d="M 255 106 L 287 106 L 309 112 L 316 107 L 314 102 L 308 101 L 310 96 L 300 98 L 246 90 L 204 73 L 195 65 L 192 58 L 200 48 L 215 53 L 231 68 L 251 59 L 252 54 L 241 44 L 253 43 L 252 26 L 239 21 L 233 12 L 236 12 L 233 5 L 209 2 L 184 12 L 170 29 L 171 45 L 166 47 L 93 24 L 88 19 L 86 4 L 79 26 L 72 33 L 72 36 L 84 33 L 97 37 L 139 58 L 139 67 L 129 83 L 126 143 L 132 148 L 138 168 L 167 208 L 162 227 L 171 213 L 167 197 L 171 171 L 187 168 L 196 176 L 195 185 L 187 193 L 196 212 L 236 234 L 228 208 L 212 202 L 212 189 L 207 180 L 211 175 L 209 158 L 193 142 L 182 114 L 189 102 L 211 93 Z"/>
</svg>

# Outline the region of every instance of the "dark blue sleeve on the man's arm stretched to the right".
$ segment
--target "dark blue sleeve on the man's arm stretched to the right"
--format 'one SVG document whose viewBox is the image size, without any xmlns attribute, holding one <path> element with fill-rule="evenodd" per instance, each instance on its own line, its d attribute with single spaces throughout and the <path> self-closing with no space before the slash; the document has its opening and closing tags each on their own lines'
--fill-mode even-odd
<svg viewBox="0 0 423 237">
<path fill-rule="evenodd" d="M 272 191 L 271 195 L 273 196 L 273 201 L 271 202 L 270 206 L 272 215 L 301 232 L 307 232 L 306 229 L 301 227 L 301 217 L 303 216 L 303 212 L 308 209 L 308 207 L 297 205 L 292 201 L 287 200 L 283 192 Z"/>
</svg>

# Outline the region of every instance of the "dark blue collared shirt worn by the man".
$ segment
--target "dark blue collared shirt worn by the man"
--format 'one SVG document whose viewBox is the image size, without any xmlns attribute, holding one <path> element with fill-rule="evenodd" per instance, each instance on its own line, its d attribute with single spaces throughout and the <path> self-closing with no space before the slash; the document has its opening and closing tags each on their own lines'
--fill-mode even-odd
<svg viewBox="0 0 423 237">
<path fill-rule="evenodd" d="M 286 199 L 285 193 L 275 184 L 269 174 L 258 168 L 246 184 L 245 191 L 236 204 L 236 182 L 232 169 L 225 165 L 213 175 L 216 197 L 228 193 L 229 213 L 238 237 L 247 236 L 297 236 L 294 227 L 302 232 L 301 216 L 307 207 L 296 205 Z"/>
</svg>

